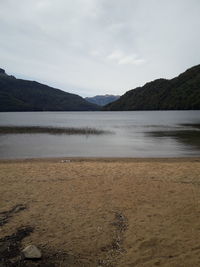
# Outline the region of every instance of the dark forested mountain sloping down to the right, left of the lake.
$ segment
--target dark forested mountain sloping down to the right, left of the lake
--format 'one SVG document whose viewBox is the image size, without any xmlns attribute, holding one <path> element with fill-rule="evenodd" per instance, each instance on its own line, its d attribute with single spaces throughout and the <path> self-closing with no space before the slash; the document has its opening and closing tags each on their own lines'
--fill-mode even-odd
<svg viewBox="0 0 200 267">
<path fill-rule="evenodd" d="M 0 69 L 0 111 L 93 111 L 100 107 L 82 97 L 7 75 Z"/>
</svg>

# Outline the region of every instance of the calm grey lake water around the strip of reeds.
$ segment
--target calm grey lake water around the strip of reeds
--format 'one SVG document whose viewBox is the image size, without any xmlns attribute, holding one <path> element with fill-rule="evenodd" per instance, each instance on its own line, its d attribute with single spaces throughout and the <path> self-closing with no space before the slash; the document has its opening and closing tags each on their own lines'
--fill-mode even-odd
<svg viewBox="0 0 200 267">
<path fill-rule="evenodd" d="M 0 126 L 93 127 L 104 135 L 1 134 L 0 158 L 200 156 L 200 111 L 9 112 Z"/>
</svg>

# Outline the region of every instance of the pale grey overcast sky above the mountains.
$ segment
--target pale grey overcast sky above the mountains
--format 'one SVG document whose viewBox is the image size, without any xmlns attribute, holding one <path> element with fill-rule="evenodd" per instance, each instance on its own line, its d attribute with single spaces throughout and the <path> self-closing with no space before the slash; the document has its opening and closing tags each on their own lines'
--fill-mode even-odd
<svg viewBox="0 0 200 267">
<path fill-rule="evenodd" d="M 200 0 L 0 0 L 0 67 L 81 96 L 200 63 Z"/>
</svg>

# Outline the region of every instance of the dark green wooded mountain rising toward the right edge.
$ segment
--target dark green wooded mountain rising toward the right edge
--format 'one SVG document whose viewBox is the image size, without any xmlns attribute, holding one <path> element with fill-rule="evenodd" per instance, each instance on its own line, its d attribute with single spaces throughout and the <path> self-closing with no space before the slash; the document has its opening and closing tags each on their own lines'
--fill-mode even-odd
<svg viewBox="0 0 200 267">
<path fill-rule="evenodd" d="M 178 77 L 158 79 L 126 92 L 104 110 L 197 110 L 200 109 L 200 65 Z"/>
</svg>

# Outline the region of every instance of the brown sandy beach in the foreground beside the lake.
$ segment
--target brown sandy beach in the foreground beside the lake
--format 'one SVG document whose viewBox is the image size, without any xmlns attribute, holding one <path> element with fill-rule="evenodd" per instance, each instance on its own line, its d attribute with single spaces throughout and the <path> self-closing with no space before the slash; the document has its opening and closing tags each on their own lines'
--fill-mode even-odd
<svg viewBox="0 0 200 267">
<path fill-rule="evenodd" d="M 33 228 L 22 266 L 200 266 L 198 158 L 1 161 L 0 212 L 1 240 Z"/>
</svg>

